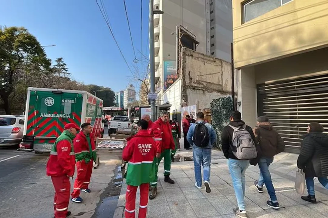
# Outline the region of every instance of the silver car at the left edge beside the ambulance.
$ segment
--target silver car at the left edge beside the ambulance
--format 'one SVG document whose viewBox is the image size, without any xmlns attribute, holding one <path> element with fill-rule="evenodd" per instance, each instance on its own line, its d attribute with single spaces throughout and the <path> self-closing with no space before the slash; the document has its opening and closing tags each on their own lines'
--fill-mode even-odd
<svg viewBox="0 0 328 218">
<path fill-rule="evenodd" d="M 23 138 L 25 116 L 0 115 L 0 146 L 18 145 Z"/>
</svg>

